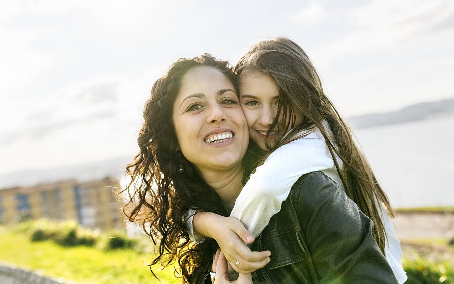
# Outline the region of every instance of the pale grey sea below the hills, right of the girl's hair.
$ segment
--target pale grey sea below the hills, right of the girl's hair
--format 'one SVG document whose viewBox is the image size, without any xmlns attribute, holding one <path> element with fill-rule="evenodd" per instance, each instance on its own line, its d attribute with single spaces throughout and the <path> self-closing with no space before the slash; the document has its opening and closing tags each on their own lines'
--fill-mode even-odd
<svg viewBox="0 0 454 284">
<path fill-rule="evenodd" d="M 353 131 L 394 208 L 454 206 L 454 115 Z"/>
</svg>

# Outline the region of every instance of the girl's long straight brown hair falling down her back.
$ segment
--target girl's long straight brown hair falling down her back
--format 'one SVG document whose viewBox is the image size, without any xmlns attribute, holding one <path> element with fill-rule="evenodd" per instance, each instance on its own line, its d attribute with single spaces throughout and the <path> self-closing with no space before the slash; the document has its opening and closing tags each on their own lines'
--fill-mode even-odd
<svg viewBox="0 0 454 284">
<path fill-rule="evenodd" d="M 373 236 L 383 254 L 386 233 L 381 219 L 383 203 L 394 216 L 386 194 L 378 184 L 363 153 L 355 145 L 349 126 L 323 92 L 320 78 L 303 49 L 288 38 L 275 38 L 254 44 L 236 66 L 237 84 L 242 75 L 259 71 L 270 76 L 279 87 L 276 118 L 267 131 L 266 147 L 271 151 L 291 140 L 302 138 L 317 127 L 323 134 L 347 195 L 374 222 Z M 303 116 L 301 125 L 294 125 L 295 113 Z M 329 125 L 326 129 L 325 123 Z M 287 129 L 293 128 L 285 135 Z M 268 135 L 278 131 L 275 145 Z M 306 133 L 300 134 L 299 133 Z M 342 160 L 342 169 L 337 157 Z"/>
</svg>

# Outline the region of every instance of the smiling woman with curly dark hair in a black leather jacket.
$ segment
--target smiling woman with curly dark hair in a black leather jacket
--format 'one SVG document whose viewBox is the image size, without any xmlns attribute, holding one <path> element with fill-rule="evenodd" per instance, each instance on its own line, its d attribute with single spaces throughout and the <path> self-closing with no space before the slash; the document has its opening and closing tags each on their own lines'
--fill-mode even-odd
<svg viewBox="0 0 454 284">
<path fill-rule="evenodd" d="M 183 220 L 187 210 L 200 209 L 227 216 L 243 185 L 245 168 L 242 159 L 249 136 L 232 79 L 226 62 L 208 55 L 182 59 L 171 66 L 167 74 L 153 85 L 151 98 L 144 108 L 145 122 L 138 137 L 140 152 L 127 167 L 131 176 L 127 190 L 134 193 L 124 208 L 125 213 L 130 221 L 140 222 L 153 241 L 155 237 L 160 239 L 159 252 L 152 264 L 160 262 L 169 266 L 178 260 L 185 282 L 203 283 L 208 280 L 213 254 L 218 248 L 212 239 L 188 245 L 189 236 Z M 314 193 L 311 198 L 298 194 L 309 190 L 307 186 Z M 314 173 L 302 176 L 294 187 L 296 189 L 289 195 L 290 203 L 286 204 L 293 206 L 300 201 L 314 204 L 297 206 L 301 216 L 290 216 L 287 209 L 280 213 L 283 218 L 288 217 L 300 226 L 291 236 L 297 238 L 291 239 L 290 245 L 295 248 L 292 255 L 291 252 L 289 255 L 279 254 L 276 250 L 273 253 L 278 257 L 273 255 L 269 259 L 267 251 L 255 252 L 257 258 L 264 259 L 262 266 L 297 253 L 298 261 L 294 259 L 284 268 L 275 266 L 274 262 L 274 270 L 264 272 L 271 277 L 268 280 L 278 281 L 276 279 L 282 273 L 286 274 L 286 269 L 296 269 L 308 274 L 292 275 L 296 277 L 292 279 L 295 282 L 341 278 L 355 282 L 363 276 L 371 283 L 395 282 L 392 270 L 372 237 L 370 219 L 335 183 L 322 173 Z M 323 188 L 329 189 L 324 190 L 329 192 L 329 196 L 319 192 Z M 335 198 L 320 214 L 313 214 L 320 222 L 308 223 L 310 220 L 306 218 L 310 214 L 307 210 L 324 207 L 323 202 L 316 204 L 313 201 L 328 197 Z M 287 208 L 287 205 L 282 208 Z M 348 226 L 339 227 L 337 225 L 342 222 L 339 223 L 337 218 L 350 222 Z M 325 221 L 337 225 L 324 226 Z M 267 228 L 272 231 L 270 225 Z M 314 238 L 311 232 L 317 232 L 318 237 Z M 332 239 L 333 234 L 337 234 L 333 242 L 321 242 Z M 310 248 L 306 239 L 313 240 L 318 248 Z M 264 240 L 264 244 L 282 241 L 280 237 L 273 240 Z M 295 244 L 299 245 L 295 247 Z M 257 243 L 257 246 L 260 248 L 262 244 Z M 350 261 L 338 265 L 346 259 Z M 355 259 L 362 260 L 362 263 L 357 265 Z M 318 275 L 315 273 L 317 269 L 322 271 Z M 338 271 L 343 271 L 343 275 L 338 275 Z M 255 277 L 258 279 L 257 275 Z"/>
</svg>

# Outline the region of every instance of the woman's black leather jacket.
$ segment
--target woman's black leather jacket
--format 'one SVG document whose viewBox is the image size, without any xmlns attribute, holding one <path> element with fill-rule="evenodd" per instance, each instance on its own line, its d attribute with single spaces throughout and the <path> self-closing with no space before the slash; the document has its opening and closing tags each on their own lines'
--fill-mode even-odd
<svg viewBox="0 0 454 284">
<path fill-rule="evenodd" d="M 252 246 L 272 253 L 254 283 L 397 283 L 372 226 L 329 177 L 303 175 Z"/>
</svg>

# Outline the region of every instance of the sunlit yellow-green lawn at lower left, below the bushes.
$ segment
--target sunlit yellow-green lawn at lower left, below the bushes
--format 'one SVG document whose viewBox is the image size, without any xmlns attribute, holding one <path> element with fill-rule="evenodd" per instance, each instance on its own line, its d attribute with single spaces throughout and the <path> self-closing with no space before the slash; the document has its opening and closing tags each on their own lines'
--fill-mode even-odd
<svg viewBox="0 0 454 284">
<path fill-rule="evenodd" d="M 31 242 L 28 236 L 10 230 L 0 230 L 0 247 L 1 262 L 40 270 L 52 278 L 80 283 L 159 283 L 143 265 L 146 255 L 130 249 L 65 248 L 51 241 Z M 179 282 L 173 269 L 155 273 L 163 283 Z"/>
</svg>

